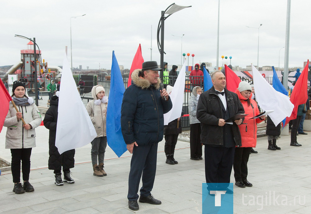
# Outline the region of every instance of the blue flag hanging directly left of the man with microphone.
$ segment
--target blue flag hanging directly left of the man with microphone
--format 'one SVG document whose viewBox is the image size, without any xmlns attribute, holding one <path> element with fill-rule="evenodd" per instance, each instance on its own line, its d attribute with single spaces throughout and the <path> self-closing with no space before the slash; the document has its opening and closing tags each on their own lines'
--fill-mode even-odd
<svg viewBox="0 0 311 214">
<path fill-rule="evenodd" d="M 121 105 L 125 91 L 117 58 L 112 51 L 111 82 L 107 106 L 106 133 L 108 146 L 120 157 L 126 149 L 121 132 Z"/>
</svg>

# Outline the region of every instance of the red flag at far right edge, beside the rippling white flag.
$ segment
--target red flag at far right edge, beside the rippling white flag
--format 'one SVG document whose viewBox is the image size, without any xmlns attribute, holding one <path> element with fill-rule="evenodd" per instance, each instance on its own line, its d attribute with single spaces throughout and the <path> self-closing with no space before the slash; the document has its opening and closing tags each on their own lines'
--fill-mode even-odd
<svg viewBox="0 0 311 214">
<path fill-rule="evenodd" d="M 308 99 L 308 68 L 309 59 L 304 70 L 301 72 L 292 93 L 290 94 L 290 102 L 294 104 L 294 109 L 290 117 L 286 117 L 285 125 L 290 122 L 290 120 L 297 118 L 298 105 L 305 104 Z"/>
</svg>

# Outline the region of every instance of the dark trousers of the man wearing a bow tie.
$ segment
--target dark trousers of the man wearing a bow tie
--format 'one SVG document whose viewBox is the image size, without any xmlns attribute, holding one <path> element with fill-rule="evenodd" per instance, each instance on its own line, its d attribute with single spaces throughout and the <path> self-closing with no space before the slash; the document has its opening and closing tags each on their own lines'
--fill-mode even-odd
<svg viewBox="0 0 311 214">
<path fill-rule="evenodd" d="M 230 183 L 234 147 L 227 148 L 205 145 L 204 156 L 206 183 Z M 228 186 L 229 184 L 225 187 Z"/>
</svg>

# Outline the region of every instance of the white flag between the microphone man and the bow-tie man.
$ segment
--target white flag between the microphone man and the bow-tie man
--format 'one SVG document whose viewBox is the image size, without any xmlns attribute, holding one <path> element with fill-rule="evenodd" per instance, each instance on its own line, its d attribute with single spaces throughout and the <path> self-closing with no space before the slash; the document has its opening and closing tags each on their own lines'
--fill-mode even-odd
<svg viewBox="0 0 311 214">
<path fill-rule="evenodd" d="M 186 81 L 186 61 L 183 63 L 183 67 L 180 69 L 179 75 L 176 79 L 175 85 L 173 87 L 172 93 L 169 98 L 172 101 L 172 109 L 164 114 L 164 125 L 169 124 L 169 122 L 177 119 L 181 115 L 183 109 L 183 99 L 185 91 L 185 81 Z"/>
</svg>

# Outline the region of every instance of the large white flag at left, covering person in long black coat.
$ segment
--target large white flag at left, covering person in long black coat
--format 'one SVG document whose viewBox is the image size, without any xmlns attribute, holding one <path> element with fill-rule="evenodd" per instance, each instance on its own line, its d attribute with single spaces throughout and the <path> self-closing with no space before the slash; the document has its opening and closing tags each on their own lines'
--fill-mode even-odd
<svg viewBox="0 0 311 214">
<path fill-rule="evenodd" d="M 91 118 L 77 90 L 66 53 L 59 91 L 55 146 L 59 154 L 62 154 L 83 147 L 97 137 Z"/>
</svg>

